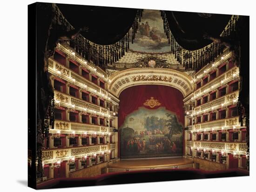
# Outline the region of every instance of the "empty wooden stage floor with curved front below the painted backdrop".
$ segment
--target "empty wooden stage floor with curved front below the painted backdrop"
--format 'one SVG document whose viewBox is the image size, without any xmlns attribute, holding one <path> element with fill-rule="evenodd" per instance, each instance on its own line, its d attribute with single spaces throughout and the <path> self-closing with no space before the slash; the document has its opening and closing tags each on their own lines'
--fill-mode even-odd
<svg viewBox="0 0 256 192">
<path fill-rule="evenodd" d="M 119 160 L 108 165 L 108 173 L 122 171 L 154 170 L 154 169 L 174 169 L 174 168 L 193 168 L 194 161 L 179 158 L 163 159 L 133 159 Z"/>
</svg>

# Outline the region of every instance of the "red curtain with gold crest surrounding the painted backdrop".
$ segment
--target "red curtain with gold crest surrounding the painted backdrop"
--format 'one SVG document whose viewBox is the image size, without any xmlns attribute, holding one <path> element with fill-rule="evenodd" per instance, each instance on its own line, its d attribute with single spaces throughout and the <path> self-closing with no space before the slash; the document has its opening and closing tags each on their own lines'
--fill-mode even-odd
<svg viewBox="0 0 256 192">
<path fill-rule="evenodd" d="M 150 99 L 150 97 L 157 99 L 161 105 L 154 108 L 144 106 L 143 103 L 147 99 Z M 119 96 L 119 100 L 118 127 L 123 124 L 126 115 L 137 110 L 139 107 L 146 107 L 148 109 L 165 107 L 167 110 L 177 115 L 179 122 L 181 122 L 184 127 L 183 95 L 175 88 L 164 85 L 136 85 L 123 90 Z M 120 141 L 120 134 L 118 137 Z M 120 156 L 120 142 L 118 154 Z"/>
</svg>

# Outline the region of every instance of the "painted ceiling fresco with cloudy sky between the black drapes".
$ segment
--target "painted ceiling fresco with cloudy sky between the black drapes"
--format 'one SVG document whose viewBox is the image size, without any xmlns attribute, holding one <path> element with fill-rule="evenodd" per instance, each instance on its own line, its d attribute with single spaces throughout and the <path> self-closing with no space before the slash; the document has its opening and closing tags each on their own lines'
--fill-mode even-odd
<svg viewBox="0 0 256 192">
<path fill-rule="evenodd" d="M 171 51 L 163 30 L 163 20 L 159 10 L 144 9 L 134 43 L 130 43 L 129 48 L 144 52 Z"/>
</svg>

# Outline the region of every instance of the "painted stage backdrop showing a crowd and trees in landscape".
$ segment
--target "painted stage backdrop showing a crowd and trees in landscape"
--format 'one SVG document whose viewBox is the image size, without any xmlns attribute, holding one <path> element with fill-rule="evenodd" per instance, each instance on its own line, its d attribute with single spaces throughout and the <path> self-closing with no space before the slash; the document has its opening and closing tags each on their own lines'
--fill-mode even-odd
<svg viewBox="0 0 256 192">
<path fill-rule="evenodd" d="M 165 107 L 139 107 L 120 129 L 123 159 L 182 156 L 182 124 Z"/>
</svg>

